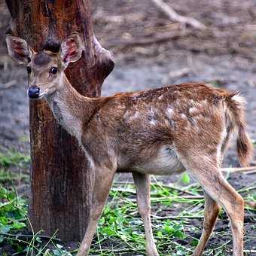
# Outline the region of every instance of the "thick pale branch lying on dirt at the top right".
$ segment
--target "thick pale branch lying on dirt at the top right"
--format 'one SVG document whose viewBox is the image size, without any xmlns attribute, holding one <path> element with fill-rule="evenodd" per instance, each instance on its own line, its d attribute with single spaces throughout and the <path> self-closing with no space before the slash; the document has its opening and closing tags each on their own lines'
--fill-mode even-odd
<svg viewBox="0 0 256 256">
<path fill-rule="evenodd" d="M 192 18 L 192 17 L 184 17 L 179 14 L 177 14 L 169 5 L 167 5 L 163 0 L 151 0 L 154 2 L 154 4 L 160 8 L 168 17 L 170 20 L 173 20 L 175 22 L 190 25 L 193 26 L 195 29 L 206 29 L 206 26 L 203 25 L 203 23 L 200 23 L 198 20 Z"/>
</svg>

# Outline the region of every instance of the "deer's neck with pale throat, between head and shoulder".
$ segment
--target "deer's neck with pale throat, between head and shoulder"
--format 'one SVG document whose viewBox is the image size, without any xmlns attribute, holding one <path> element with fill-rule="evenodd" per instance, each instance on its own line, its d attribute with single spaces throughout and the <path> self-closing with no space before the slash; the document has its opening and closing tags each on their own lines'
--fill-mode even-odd
<svg viewBox="0 0 256 256">
<path fill-rule="evenodd" d="M 94 112 L 93 99 L 81 96 L 65 77 L 61 89 L 48 96 L 47 102 L 56 120 L 80 142 L 83 126 Z"/>
</svg>

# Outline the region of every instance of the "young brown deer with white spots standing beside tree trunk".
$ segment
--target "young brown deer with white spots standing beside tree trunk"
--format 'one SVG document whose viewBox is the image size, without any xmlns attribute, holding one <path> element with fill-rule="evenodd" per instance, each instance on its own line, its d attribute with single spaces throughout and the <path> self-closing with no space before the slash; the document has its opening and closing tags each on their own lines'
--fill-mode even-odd
<svg viewBox="0 0 256 256">
<path fill-rule="evenodd" d="M 56 120 L 78 140 L 95 173 L 88 227 L 78 250 L 87 255 L 116 172 L 132 172 L 146 251 L 159 255 L 151 227 L 151 176 L 184 172 L 203 187 L 203 233 L 193 255 L 203 250 L 221 207 L 233 236 L 233 256 L 243 255 L 244 201 L 221 173 L 230 137 L 236 136 L 239 163 L 247 166 L 252 144 L 246 132 L 245 100 L 203 83 L 89 98 L 66 78 L 70 62 L 81 58 L 78 33 L 59 44 L 58 52 L 36 53 L 23 38 L 6 37 L 12 59 L 26 64 L 29 99 L 44 99 Z"/>
</svg>

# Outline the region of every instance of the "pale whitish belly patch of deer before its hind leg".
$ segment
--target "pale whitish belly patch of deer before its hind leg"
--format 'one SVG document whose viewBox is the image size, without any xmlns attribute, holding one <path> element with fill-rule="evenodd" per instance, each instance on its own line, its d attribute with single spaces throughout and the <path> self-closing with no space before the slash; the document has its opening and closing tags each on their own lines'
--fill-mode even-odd
<svg viewBox="0 0 256 256">
<path fill-rule="evenodd" d="M 178 160 L 175 150 L 164 146 L 155 157 L 133 166 L 133 171 L 153 175 L 170 175 L 174 172 L 183 172 L 184 166 Z"/>
</svg>

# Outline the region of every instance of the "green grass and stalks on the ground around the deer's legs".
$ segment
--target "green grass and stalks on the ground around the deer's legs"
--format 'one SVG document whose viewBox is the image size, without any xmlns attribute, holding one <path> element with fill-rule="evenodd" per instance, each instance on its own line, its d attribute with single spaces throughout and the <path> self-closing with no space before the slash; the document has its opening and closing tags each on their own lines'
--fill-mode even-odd
<svg viewBox="0 0 256 256">
<path fill-rule="evenodd" d="M 77 248 L 67 248 L 56 239 L 57 232 L 45 237 L 41 232 L 27 231 L 32 230 L 27 218 L 28 201 L 14 187 L 28 183 L 29 177 L 23 169 L 29 167 L 29 162 L 28 156 L 15 151 L 0 153 L 0 254 L 1 247 L 11 245 L 14 255 L 75 255 Z M 191 184 L 186 173 L 181 175 L 178 184 L 166 185 L 152 178 L 152 225 L 160 255 L 190 255 L 202 231 L 203 190 L 198 184 Z M 246 200 L 256 201 L 253 186 L 248 184 L 242 188 Z M 249 207 L 246 212 L 254 214 Z M 221 212 L 220 218 L 227 216 Z M 210 245 L 205 255 L 229 254 L 230 230 L 218 231 L 215 236 L 224 237 L 226 242 Z M 134 184 L 114 183 L 90 254 L 145 255 L 145 231 L 136 205 Z"/>
</svg>

